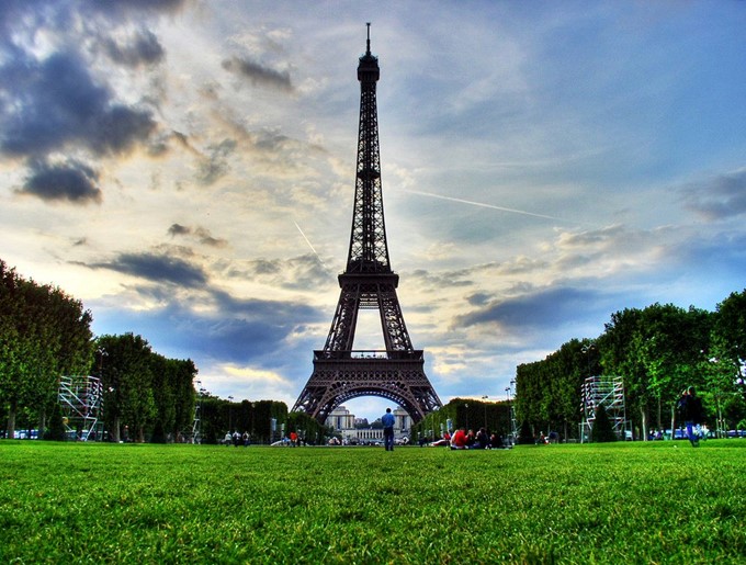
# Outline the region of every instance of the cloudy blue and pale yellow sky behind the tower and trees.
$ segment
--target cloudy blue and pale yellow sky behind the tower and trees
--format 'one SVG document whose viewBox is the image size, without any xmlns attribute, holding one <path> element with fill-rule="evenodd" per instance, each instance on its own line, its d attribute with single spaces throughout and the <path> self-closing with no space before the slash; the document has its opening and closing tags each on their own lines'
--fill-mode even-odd
<svg viewBox="0 0 746 565">
<path fill-rule="evenodd" d="M 213 394 L 292 406 L 344 268 L 365 22 L 392 264 L 443 402 L 505 398 L 619 309 L 744 290 L 728 1 L 5 1 L 0 258 Z M 383 342 L 365 316 L 357 338 Z"/>
</svg>

